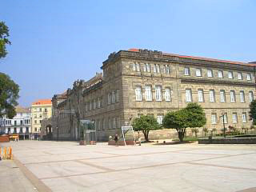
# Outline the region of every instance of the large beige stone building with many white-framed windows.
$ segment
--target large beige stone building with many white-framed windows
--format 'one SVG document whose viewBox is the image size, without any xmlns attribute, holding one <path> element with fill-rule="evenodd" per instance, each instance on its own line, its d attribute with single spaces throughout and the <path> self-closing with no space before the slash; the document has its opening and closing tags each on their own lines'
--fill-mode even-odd
<svg viewBox="0 0 256 192">
<path fill-rule="evenodd" d="M 58 137 L 78 139 L 78 120 L 90 119 L 95 122 L 98 139 L 106 140 L 142 114 L 152 114 L 162 123 L 168 111 L 189 102 L 203 107 L 209 129 L 221 130 L 223 117 L 226 126 L 250 127 L 254 66 L 160 51 L 120 50 L 103 62 L 102 76 L 75 82 L 63 104 L 56 106 L 74 110 L 77 119 L 72 122 L 63 117 L 68 123 L 58 126 Z"/>
</svg>

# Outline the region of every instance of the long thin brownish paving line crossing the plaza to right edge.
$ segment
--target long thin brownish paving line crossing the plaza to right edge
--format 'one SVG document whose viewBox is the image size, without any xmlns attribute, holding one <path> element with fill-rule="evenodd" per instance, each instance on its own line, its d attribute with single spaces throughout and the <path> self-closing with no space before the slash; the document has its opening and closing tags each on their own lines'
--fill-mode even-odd
<svg viewBox="0 0 256 192">
<path fill-rule="evenodd" d="M 249 154 L 255 154 L 255 153 L 249 153 Z M 235 155 L 226 155 L 226 156 L 221 156 L 218 158 L 226 158 L 226 157 L 232 157 L 232 156 L 239 156 L 243 154 L 235 154 Z M 106 173 L 114 173 L 114 172 L 121 172 L 121 171 L 127 171 L 127 170 L 140 170 L 140 169 L 146 169 L 146 168 L 152 168 L 152 167 L 158 167 L 158 166 L 171 166 L 175 164 L 182 164 L 182 163 L 190 163 L 190 162 L 198 162 L 198 161 L 204 161 L 204 160 L 210 160 L 210 159 L 217 159 L 217 158 L 202 158 L 198 160 L 192 160 L 192 161 L 185 161 L 185 162 L 170 162 L 170 163 L 162 163 L 162 164 L 157 164 L 157 165 L 152 165 L 152 166 L 140 166 L 140 167 L 134 167 L 134 168 L 126 168 L 126 169 L 120 169 L 120 170 L 110 170 L 110 171 L 102 171 L 102 172 L 97 172 L 97 173 L 87 173 L 87 174 L 74 174 L 74 175 L 66 175 L 66 176 L 61 176 L 61 177 L 50 177 L 50 178 L 41 178 L 41 179 L 53 179 L 53 178 L 70 178 L 74 176 L 82 176 L 82 175 L 90 175 L 90 174 L 106 174 Z M 91 163 L 92 166 L 96 166 Z M 226 168 L 231 168 L 231 167 L 226 167 Z M 236 167 L 238 169 L 238 167 Z M 248 169 L 248 168 L 246 168 Z M 243 168 L 240 170 L 244 170 Z"/>
</svg>

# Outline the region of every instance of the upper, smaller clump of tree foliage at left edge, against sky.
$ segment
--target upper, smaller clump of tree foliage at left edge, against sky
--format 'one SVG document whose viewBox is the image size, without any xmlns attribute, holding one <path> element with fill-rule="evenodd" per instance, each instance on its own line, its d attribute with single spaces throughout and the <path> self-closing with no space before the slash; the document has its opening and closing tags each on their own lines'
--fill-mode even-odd
<svg viewBox="0 0 256 192">
<path fill-rule="evenodd" d="M 0 22 L 0 58 L 6 57 L 6 45 L 10 45 L 9 29 L 5 22 Z"/>
</svg>

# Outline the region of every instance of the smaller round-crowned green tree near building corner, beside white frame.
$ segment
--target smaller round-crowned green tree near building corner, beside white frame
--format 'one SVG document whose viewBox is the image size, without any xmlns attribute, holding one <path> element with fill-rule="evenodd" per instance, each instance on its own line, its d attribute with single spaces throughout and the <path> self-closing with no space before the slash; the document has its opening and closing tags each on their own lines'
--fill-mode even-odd
<svg viewBox="0 0 256 192">
<path fill-rule="evenodd" d="M 161 126 L 158 121 L 152 115 L 142 115 L 140 118 L 135 118 L 132 126 L 135 131 L 141 130 L 144 134 L 146 142 L 149 141 L 150 130 L 159 130 Z"/>
</svg>

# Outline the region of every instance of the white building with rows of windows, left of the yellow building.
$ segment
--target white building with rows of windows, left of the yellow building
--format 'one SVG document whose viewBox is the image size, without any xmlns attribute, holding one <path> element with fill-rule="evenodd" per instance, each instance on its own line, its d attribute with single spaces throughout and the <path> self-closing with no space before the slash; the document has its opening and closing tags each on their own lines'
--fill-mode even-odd
<svg viewBox="0 0 256 192">
<path fill-rule="evenodd" d="M 3 117 L 0 120 L 0 132 L 5 134 L 19 134 L 19 138 L 30 138 L 31 111 L 21 106 L 16 107 L 16 116 L 10 119 Z"/>
</svg>

